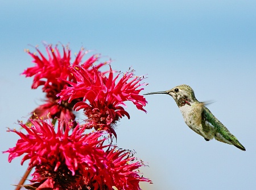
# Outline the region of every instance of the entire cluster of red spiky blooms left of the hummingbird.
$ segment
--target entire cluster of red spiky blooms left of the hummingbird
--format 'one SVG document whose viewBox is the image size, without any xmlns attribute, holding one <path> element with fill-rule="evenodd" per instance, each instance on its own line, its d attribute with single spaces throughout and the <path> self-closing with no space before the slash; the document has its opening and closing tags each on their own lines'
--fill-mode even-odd
<svg viewBox="0 0 256 190">
<path fill-rule="evenodd" d="M 117 138 L 115 123 L 124 116 L 130 118 L 124 108 L 126 101 L 146 112 L 143 106 L 147 101 L 139 94 L 146 85 L 140 83 L 144 77 L 134 76 L 133 70 L 114 76 L 110 61 L 97 64 L 97 55 L 82 62 L 88 52 L 84 49 L 73 63 L 71 50 L 64 46 L 63 56 L 57 46 L 47 46 L 48 59 L 38 48 L 36 51 L 39 56 L 27 51 L 35 66 L 23 75 L 34 77 L 32 89 L 43 87 L 46 102 L 33 111 L 28 122 L 19 122 L 27 134 L 9 130 L 20 139 L 4 152 L 9 153 L 9 162 L 24 154 L 21 164 L 29 160 L 28 170 L 35 168 L 31 184 L 18 186 L 36 190 L 136 190 L 141 189 L 140 181 L 152 183 L 139 173 L 143 162 L 133 152 L 113 145 L 112 138 L 112 134 Z M 109 69 L 100 71 L 104 65 Z M 81 109 L 86 116 L 83 125 L 75 120 L 75 111 Z"/>
</svg>

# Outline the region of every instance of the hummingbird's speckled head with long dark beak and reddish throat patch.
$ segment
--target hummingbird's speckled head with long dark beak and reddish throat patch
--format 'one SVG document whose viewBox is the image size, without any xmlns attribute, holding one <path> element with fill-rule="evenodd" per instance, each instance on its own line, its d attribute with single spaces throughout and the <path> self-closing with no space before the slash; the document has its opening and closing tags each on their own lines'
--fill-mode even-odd
<svg viewBox="0 0 256 190">
<path fill-rule="evenodd" d="M 143 95 L 148 95 L 148 94 L 169 94 L 170 96 L 172 96 L 172 98 L 174 98 L 179 108 L 181 106 L 184 106 L 185 104 L 190 105 L 192 102 L 197 101 L 193 89 L 190 86 L 185 84 L 175 86 L 171 90 L 160 91 L 160 92 L 150 92 Z"/>
</svg>

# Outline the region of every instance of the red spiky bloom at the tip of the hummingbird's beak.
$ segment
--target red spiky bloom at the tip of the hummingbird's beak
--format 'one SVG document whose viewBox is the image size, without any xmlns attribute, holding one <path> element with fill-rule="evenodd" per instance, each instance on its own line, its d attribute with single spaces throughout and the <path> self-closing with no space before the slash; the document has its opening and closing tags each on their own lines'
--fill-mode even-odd
<svg viewBox="0 0 256 190">
<path fill-rule="evenodd" d="M 113 129 L 115 123 L 125 115 L 130 118 L 129 113 L 123 108 L 126 106 L 125 101 L 133 102 L 139 110 L 146 112 L 143 106 L 147 101 L 139 94 L 143 90 L 139 87 L 146 84 L 140 84 L 144 77 L 135 77 L 133 71 L 119 73 L 114 77 L 112 68 L 109 68 L 109 76 L 106 76 L 95 67 L 90 73 L 79 65 L 71 67 L 76 82 L 67 81 L 70 86 L 57 96 L 60 96 L 60 101 L 68 102 L 82 98 L 82 101 L 75 104 L 74 109 L 84 109 L 88 126 L 96 130 L 106 130 L 116 137 Z"/>
</svg>

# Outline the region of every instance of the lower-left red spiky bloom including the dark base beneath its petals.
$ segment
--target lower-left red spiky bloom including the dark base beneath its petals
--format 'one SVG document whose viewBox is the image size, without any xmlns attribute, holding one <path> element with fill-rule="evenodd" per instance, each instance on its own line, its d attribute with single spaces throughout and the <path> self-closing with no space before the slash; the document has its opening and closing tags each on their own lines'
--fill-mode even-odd
<svg viewBox="0 0 256 190">
<path fill-rule="evenodd" d="M 76 189 L 84 168 L 95 173 L 105 167 L 105 151 L 102 146 L 104 139 L 101 132 L 83 134 L 85 127 L 71 127 L 63 131 L 62 122 L 58 123 L 57 131 L 51 122 L 32 120 L 32 127 L 20 123 L 27 135 L 12 131 L 20 136 L 16 146 L 9 152 L 9 162 L 22 154 L 21 164 L 30 159 L 29 168 L 35 167 L 32 174 L 33 183 L 38 188 L 48 186 L 53 189 Z"/>
</svg>

